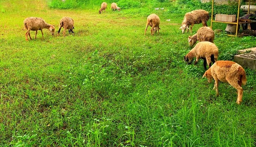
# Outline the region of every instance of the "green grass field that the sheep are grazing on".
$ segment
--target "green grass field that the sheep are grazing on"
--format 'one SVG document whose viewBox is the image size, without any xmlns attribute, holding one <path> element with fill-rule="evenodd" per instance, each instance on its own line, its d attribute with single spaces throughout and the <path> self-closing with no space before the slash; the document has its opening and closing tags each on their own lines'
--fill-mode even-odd
<svg viewBox="0 0 256 147">
<path fill-rule="evenodd" d="M 44 0 L 0 1 L 0 146 L 255 147 L 256 71 L 245 69 L 241 105 L 225 83 L 216 97 L 213 83 L 201 78 L 202 62 L 183 62 L 187 38 L 201 24 L 181 34 L 169 23 L 180 24 L 183 14 L 168 9 L 99 15 L 49 9 Z M 160 34 L 144 37 L 151 13 L 160 16 Z M 44 29 L 45 38 L 38 32 L 26 42 L 23 20 L 31 16 L 56 28 L 72 17 L 75 35 L 52 37 Z M 220 60 L 255 42 L 215 37 Z"/>
</svg>

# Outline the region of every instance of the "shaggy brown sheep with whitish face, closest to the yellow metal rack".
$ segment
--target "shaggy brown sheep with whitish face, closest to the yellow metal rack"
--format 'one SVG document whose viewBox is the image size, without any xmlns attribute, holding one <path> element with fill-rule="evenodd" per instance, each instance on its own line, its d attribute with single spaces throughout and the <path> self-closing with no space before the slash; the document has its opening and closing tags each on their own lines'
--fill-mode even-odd
<svg viewBox="0 0 256 147">
<path fill-rule="evenodd" d="M 185 14 L 184 20 L 181 23 L 181 27 L 179 29 L 181 29 L 182 33 L 184 33 L 187 28 L 187 32 L 188 32 L 189 25 L 191 25 L 190 31 L 192 32 L 192 28 L 194 24 L 202 23 L 203 26 L 207 26 L 207 20 L 209 20 L 209 12 L 201 9 L 194 10 Z"/>
</svg>

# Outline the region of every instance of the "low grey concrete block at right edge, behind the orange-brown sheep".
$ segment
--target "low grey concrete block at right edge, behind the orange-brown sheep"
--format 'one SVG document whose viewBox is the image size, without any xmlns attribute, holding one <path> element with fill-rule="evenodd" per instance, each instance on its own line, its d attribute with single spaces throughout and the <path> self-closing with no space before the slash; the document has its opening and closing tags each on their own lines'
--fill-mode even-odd
<svg viewBox="0 0 256 147">
<path fill-rule="evenodd" d="M 241 65 L 243 68 L 256 69 L 256 51 L 236 55 L 234 57 L 234 62 Z"/>
</svg>

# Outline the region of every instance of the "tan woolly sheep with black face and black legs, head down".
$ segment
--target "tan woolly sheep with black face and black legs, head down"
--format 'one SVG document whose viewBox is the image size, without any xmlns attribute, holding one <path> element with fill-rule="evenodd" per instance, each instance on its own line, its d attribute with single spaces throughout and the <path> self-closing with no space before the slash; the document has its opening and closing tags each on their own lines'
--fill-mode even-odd
<svg viewBox="0 0 256 147">
<path fill-rule="evenodd" d="M 184 56 L 184 61 L 187 64 L 191 64 L 192 60 L 196 57 L 195 65 L 198 62 L 198 59 L 204 59 L 204 69 L 206 70 L 206 63 L 211 67 L 211 63 L 215 63 L 218 59 L 218 48 L 217 46 L 208 41 L 198 42 L 198 44 L 195 45 L 195 47 L 189 51 L 186 56 Z"/>
</svg>

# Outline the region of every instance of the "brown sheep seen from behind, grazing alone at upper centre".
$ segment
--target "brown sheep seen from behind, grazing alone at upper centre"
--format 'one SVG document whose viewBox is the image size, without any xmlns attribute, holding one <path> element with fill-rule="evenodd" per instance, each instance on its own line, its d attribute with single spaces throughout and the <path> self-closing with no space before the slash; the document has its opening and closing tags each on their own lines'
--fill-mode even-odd
<svg viewBox="0 0 256 147">
<path fill-rule="evenodd" d="M 152 27 L 151 35 L 154 35 L 154 33 L 156 33 L 157 30 L 158 30 L 158 34 L 159 34 L 159 30 L 160 30 L 159 24 L 160 24 L 160 18 L 156 14 L 150 14 L 147 18 L 147 24 L 146 24 L 144 36 L 146 35 L 148 25 L 150 25 Z"/>
</svg>

